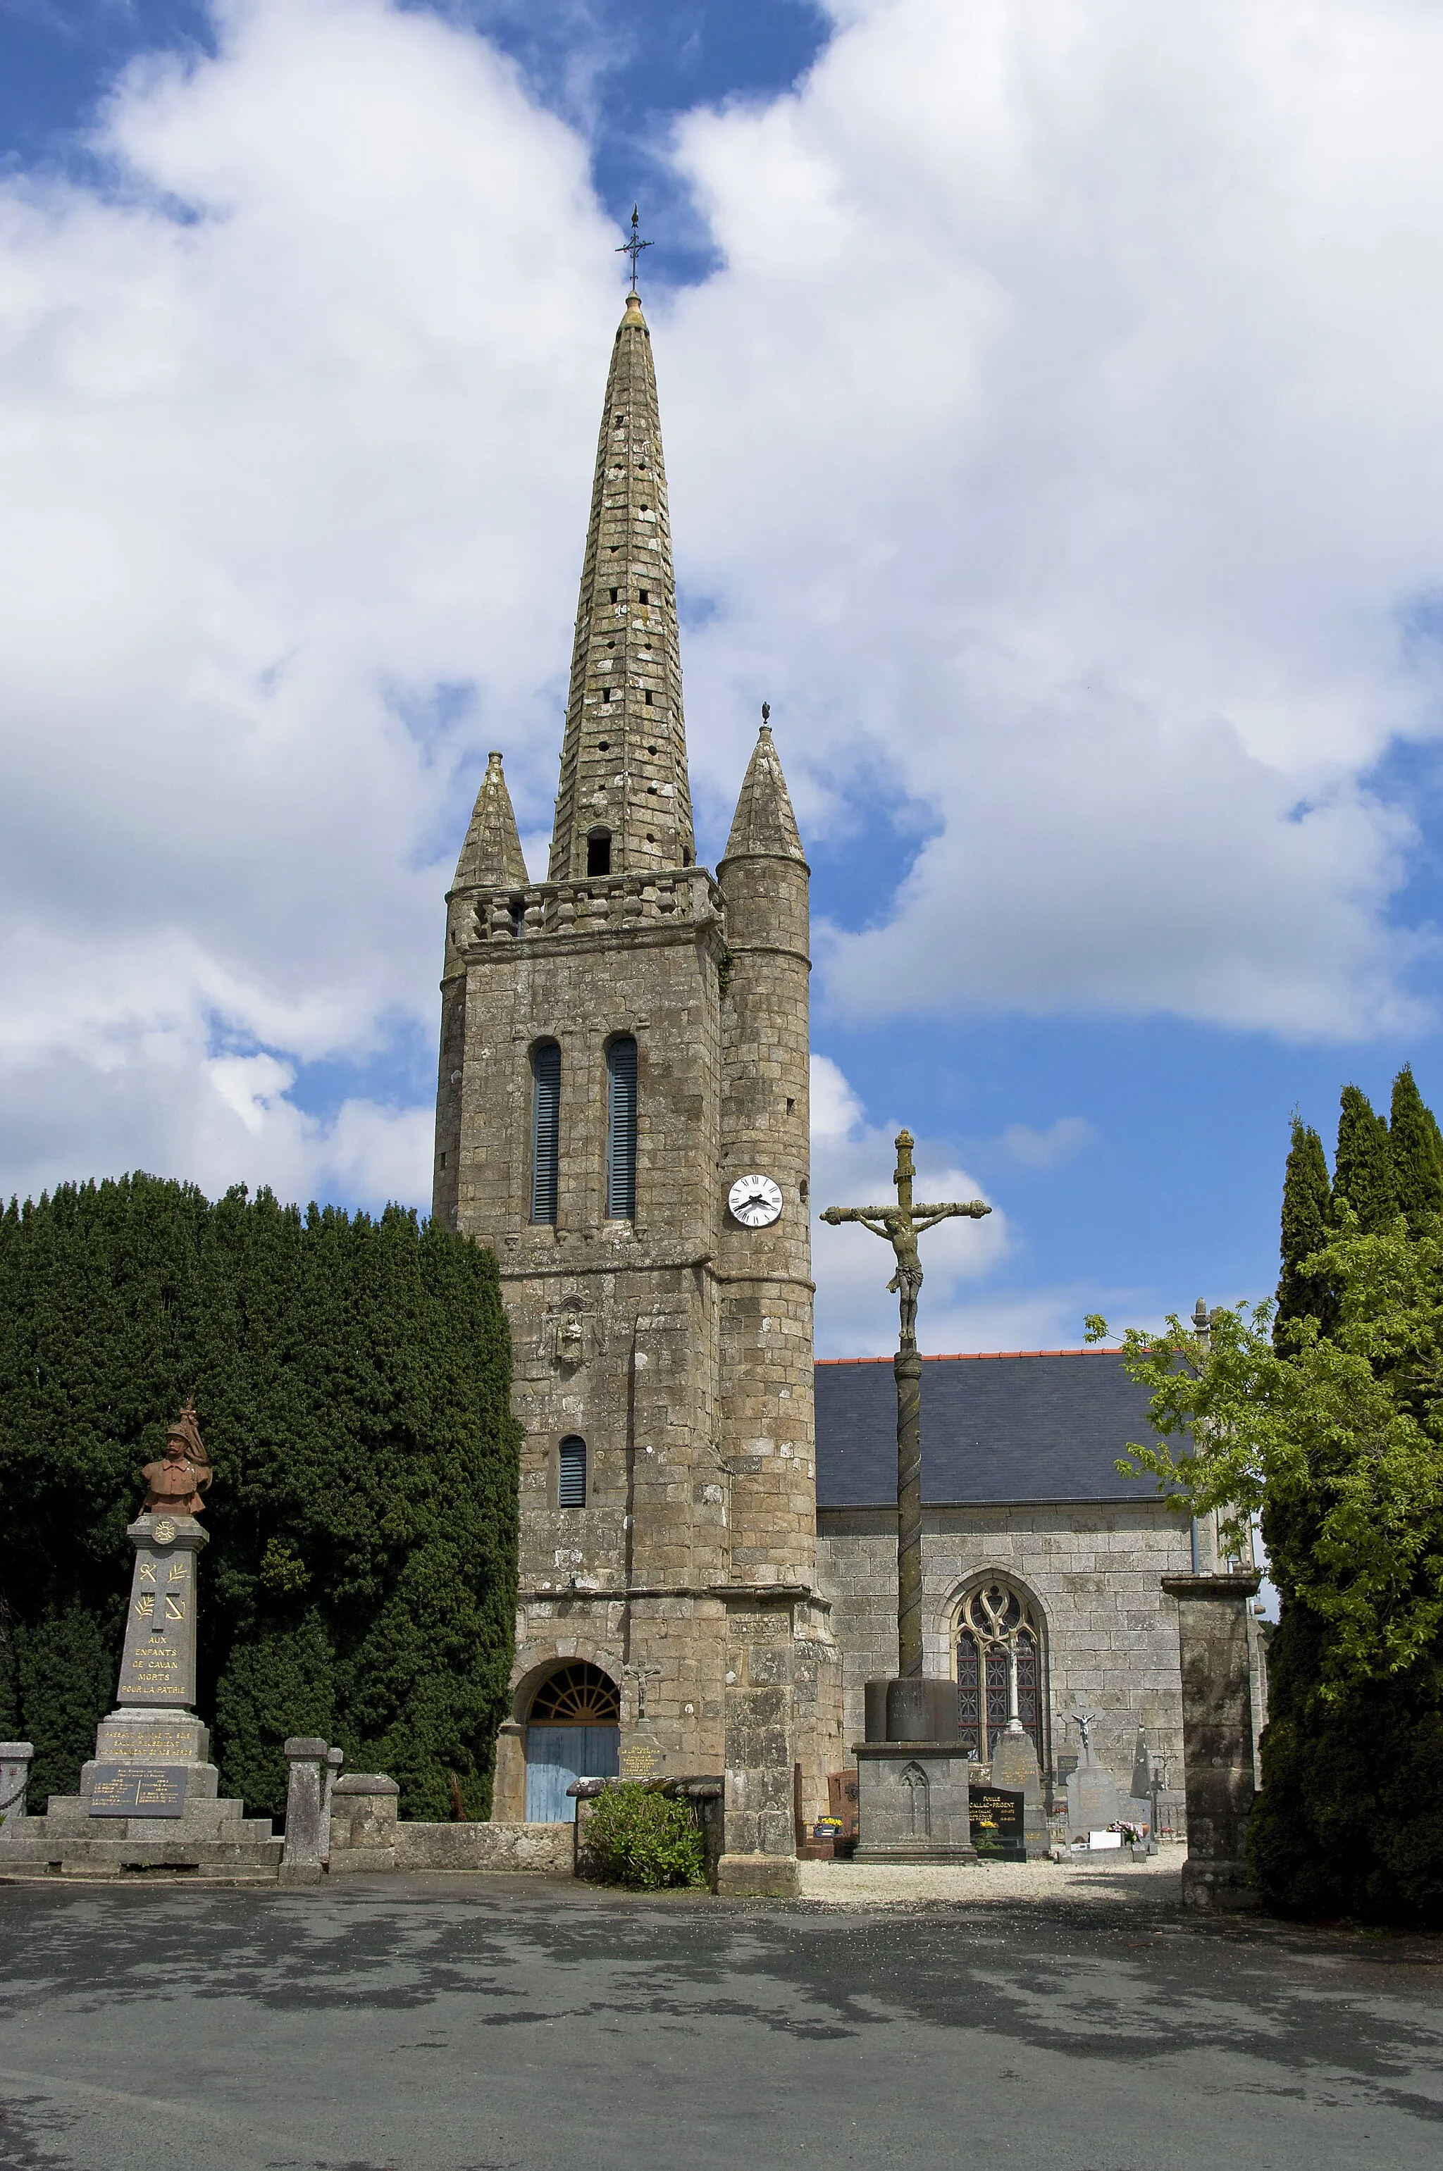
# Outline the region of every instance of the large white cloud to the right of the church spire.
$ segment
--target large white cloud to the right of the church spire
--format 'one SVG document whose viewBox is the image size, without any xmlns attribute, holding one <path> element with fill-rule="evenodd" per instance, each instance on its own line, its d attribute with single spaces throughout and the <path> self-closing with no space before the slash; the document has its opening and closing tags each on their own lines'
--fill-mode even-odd
<svg viewBox="0 0 1443 2171">
<path fill-rule="evenodd" d="M 766 684 L 803 827 L 935 823 L 881 925 L 822 931 L 825 996 L 1417 1025 L 1439 949 L 1387 925 L 1413 827 L 1367 771 L 1439 719 L 1402 625 L 1443 582 L 1443 15 L 838 22 L 796 96 L 679 128 L 727 269 L 662 350 L 725 604 L 692 710 Z"/>
</svg>

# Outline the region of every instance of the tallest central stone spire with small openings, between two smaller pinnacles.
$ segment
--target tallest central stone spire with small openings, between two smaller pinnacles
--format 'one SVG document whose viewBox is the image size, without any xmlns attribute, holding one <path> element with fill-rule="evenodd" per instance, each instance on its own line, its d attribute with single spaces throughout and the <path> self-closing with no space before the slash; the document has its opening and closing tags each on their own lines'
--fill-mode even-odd
<svg viewBox="0 0 1443 2171">
<path fill-rule="evenodd" d="M 662 421 L 651 332 L 629 293 L 597 443 L 551 881 L 694 855 Z"/>
</svg>

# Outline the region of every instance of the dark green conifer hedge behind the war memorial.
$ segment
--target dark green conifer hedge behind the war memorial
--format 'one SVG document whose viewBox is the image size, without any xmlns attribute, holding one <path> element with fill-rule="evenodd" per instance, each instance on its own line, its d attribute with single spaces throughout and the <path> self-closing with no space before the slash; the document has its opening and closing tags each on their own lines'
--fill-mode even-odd
<svg viewBox="0 0 1443 2171">
<path fill-rule="evenodd" d="M 0 1732 L 74 1793 L 119 1665 L 141 1463 L 195 1394 L 215 1463 L 200 1715 L 221 1791 L 284 1808 L 286 1735 L 401 1815 L 490 1806 L 519 1426 L 490 1253 L 388 1207 L 156 1177 L 0 1216 Z"/>
</svg>

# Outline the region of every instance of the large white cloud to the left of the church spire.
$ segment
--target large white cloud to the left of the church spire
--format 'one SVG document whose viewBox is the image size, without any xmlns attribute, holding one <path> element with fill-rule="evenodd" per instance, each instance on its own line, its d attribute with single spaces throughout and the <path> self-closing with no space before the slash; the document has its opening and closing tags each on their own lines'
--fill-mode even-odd
<svg viewBox="0 0 1443 2171">
<path fill-rule="evenodd" d="M 0 189 L 0 1177 L 425 1198 L 423 1112 L 289 1094 L 434 1031 L 484 749 L 549 801 L 612 237 L 484 41 L 221 33 L 126 78 L 108 195 Z"/>
</svg>

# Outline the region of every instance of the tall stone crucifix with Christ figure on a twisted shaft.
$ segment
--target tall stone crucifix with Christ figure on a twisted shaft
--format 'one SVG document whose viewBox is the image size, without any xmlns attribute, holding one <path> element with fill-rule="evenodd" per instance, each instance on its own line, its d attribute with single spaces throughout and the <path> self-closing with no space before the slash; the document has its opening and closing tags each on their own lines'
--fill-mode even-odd
<svg viewBox="0 0 1443 2171">
<path fill-rule="evenodd" d="M 981 1198 L 920 1207 L 911 1203 L 916 1170 L 911 1166 L 911 1131 L 896 1133 L 896 1205 L 894 1207 L 827 1207 L 825 1222 L 861 1222 L 883 1237 L 896 1257 L 896 1274 L 887 1283 L 896 1292 L 903 1331 L 892 1359 L 896 1379 L 896 1672 L 901 1678 L 922 1672 L 922 1359 L 918 1357 L 918 1294 L 922 1261 L 918 1237 L 942 1220 L 981 1220 L 992 1214 Z"/>
</svg>

